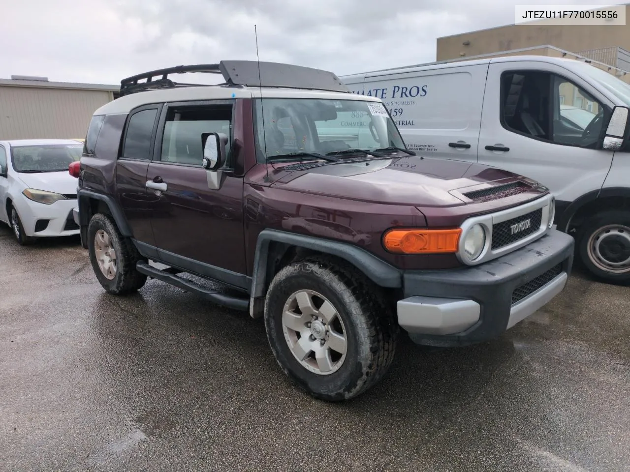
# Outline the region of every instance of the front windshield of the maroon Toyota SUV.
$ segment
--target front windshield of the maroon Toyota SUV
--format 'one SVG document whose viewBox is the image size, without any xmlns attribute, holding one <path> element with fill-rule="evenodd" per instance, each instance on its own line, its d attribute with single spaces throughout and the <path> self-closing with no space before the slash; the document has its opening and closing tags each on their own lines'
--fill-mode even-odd
<svg viewBox="0 0 630 472">
<path fill-rule="evenodd" d="M 350 149 L 404 148 L 396 125 L 379 102 L 265 98 L 256 100 L 255 111 L 256 150 L 261 163 L 266 157 L 294 153 L 326 155 Z"/>
</svg>

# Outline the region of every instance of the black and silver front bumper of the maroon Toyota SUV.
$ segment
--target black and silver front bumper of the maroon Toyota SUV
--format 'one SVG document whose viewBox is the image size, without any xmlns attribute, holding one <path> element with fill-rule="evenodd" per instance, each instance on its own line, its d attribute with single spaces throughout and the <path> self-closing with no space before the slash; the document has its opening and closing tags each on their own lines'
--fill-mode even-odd
<svg viewBox="0 0 630 472">
<path fill-rule="evenodd" d="M 406 271 L 398 323 L 418 344 L 462 346 L 494 339 L 563 290 L 573 245 L 573 237 L 550 230 L 479 266 Z"/>
</svg>

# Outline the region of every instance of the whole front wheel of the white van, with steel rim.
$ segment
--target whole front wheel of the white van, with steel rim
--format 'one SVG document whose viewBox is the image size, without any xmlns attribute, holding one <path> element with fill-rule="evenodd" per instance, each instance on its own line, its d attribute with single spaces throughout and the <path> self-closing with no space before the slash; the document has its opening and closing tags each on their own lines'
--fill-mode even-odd
<svg viewBox="0 0 630 472">
<path fill-rule="evenodd" d="M 580 259 L 597 278 L 630 280 L 630 212 L 610 210 L 592 216 L 578 233 Z"/>
</svg>

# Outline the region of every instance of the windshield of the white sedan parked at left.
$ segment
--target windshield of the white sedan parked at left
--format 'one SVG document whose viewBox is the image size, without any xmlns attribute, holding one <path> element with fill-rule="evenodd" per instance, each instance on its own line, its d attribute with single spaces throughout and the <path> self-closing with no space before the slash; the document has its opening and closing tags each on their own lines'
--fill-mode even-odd
<svg viewBox="0 0 630 472">
<path fill-rule="evenodd" d="M 83 146 L 75 144 L 43 144 L 11 147 L 16 172 L 68 171 L 71 162 L 81 159 Z"/>
</svg>

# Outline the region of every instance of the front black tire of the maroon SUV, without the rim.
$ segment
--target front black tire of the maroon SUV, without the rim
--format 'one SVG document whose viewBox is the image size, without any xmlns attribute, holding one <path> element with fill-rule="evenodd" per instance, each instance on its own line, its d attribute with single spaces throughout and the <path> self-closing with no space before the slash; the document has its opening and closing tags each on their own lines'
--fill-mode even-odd
<svg viewBox="0 0 630 472">
<path fill-rule="evenodd" d="M 347 331 L 347 353 L 334 373 L 312 373 L 290 351 L 282 325 L 289 297 L 301 289 L 321 293 Z M 343 260 L 314 256 L 280 269 L 265 298 L 265 328 L 273 355 L 289 379 L 321 400 L 348 400 L 369 390 L 387 372 L 399 326 L 381 288 Z"/>
</svg>

